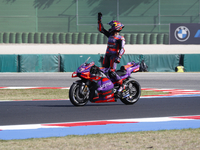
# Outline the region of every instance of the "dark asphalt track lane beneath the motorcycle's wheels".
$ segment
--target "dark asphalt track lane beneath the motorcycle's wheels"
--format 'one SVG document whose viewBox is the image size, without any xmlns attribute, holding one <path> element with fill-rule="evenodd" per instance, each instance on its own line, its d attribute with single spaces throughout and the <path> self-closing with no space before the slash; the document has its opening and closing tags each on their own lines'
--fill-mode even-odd
<svg viewBox="0 0 200 150">
<path fill-rule="evenodd" d="M 67 100 L 1 102 L 0 125 L 199 115 L 199 108 L 200 97 L 141 98 L 128 106 L 120 101 L 84 107 Z"/>
</svg>

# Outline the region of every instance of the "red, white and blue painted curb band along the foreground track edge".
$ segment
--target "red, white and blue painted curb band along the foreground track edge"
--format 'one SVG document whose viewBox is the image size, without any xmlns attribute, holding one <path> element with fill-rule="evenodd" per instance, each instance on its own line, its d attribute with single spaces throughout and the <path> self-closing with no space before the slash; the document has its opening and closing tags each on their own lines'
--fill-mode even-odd
<svg viewBox="0 0 200 150">
<path fill-rule="evenodd" d="M 200 128 L 200 115 L 0 126 L 0 139 Z"/>
</svg>

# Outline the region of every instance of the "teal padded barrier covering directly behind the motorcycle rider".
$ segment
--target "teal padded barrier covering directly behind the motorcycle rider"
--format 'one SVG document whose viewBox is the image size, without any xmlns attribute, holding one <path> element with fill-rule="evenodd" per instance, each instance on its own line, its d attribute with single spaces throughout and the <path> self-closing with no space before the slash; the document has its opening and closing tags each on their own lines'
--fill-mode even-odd
<svg viewBox="0 0 200 150">
<path fill-rule="evenodd" d="M 0 55 L 0 72 L 73 72 L 91 57 L 101 66 L 103 54 L 4 54 Z M 175 72 L 183 65 L 185 72 L 200 71 L 200 54 L 124 54 L 121 65 L 144 60 L 149 72 Z"/>
</svg>

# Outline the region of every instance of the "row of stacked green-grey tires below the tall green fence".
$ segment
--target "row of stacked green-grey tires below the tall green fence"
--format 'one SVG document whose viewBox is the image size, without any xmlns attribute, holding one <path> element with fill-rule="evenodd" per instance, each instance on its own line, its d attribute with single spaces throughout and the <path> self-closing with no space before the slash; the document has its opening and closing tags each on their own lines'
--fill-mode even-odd
<svg viewBox="0 0 200 150">
<path fill-rule="evenodd" d="M 164 33 L 120 33 L 126 44 L 169 44 Z M 106 44 L 102 33 L 0 32 L 0 43 Z"/>
</svg>

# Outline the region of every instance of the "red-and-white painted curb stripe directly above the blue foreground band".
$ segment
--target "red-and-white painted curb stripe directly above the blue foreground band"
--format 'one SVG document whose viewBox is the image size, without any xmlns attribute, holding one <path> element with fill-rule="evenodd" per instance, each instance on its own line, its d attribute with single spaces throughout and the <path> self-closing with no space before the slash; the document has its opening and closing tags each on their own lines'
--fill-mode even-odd
<svg viewBox="0 0 200 150">
<path fill-rule="evenodd" d="M 200 115 L 155 117 L 155 118 L 135 118 L 135 119 L 115 119 L 115 120 L 99 120 L 99 121 L 85 121 L 85 122 L 63 122 L 63 123 L 50 123 L 50 124 L 47 123 L 47 124 L 7 125 L 7 126 L 0 126 L 0 131 L 27 130 L 27 129 L 40 129 L 40 128 L 95 126 L 95 125 L 142 123 L 142 122 L 143 123 L 145 123 L 145 122 L 155 122 L 156 123 L 156 122 L 186 121 L 186 120 L 200 120 Z"/>
</svg>

